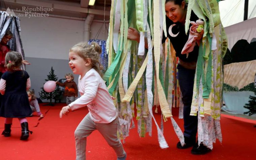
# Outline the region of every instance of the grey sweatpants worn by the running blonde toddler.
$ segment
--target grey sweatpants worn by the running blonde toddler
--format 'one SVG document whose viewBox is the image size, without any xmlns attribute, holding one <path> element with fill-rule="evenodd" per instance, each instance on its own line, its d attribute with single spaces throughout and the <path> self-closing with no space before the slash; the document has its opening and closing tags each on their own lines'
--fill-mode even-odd
<svg viewBox="0 0 256 160">
<path fill-rule="evenodd" d="M 105 138 L 108 145 L 115 150 L 117 157 L 124 157 L 124 148 L 117 138 L 117 120 L 118 118 L 107 124 L 95 123 L 88 113 L 75 130 L 76 160 L 86 159 L 86 138 L 96 129 Z"/>
</svg>

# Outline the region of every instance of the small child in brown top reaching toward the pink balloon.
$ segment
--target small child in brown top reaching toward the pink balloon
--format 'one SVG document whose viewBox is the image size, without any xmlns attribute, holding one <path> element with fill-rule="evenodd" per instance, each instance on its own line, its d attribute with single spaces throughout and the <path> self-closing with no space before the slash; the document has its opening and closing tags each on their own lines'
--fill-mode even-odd
<svg viewBox="0 0 256 160">
<path fill-rule="evenodd" d="M 67 105 L 69 105 L 75 100 L 75 97 L 77 97 L 77 86 L 76 83 L 73 81 L 73 74 L 66 73 L 65 78 L 66 81 L 64 83 L 56 81 L 56 84 L 60 85 L 61 87 L 65 87 L 64 96 L 66 96 L 66 103 Z"/>
</svg>

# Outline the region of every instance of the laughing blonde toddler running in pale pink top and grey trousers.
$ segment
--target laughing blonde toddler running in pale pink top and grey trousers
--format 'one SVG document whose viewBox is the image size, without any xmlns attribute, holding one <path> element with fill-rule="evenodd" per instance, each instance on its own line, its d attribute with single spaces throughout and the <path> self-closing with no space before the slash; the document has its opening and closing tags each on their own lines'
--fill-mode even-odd
<svg viewBox="0 0 256 160">
<path fill-rule="evenodd" d="M 88 107 L 89 113 L 75 130 L 76 160 L 86 159 L 86 140 L 96 129 L 114 149 L 117 159 L 125 160 L 126 153 L 117 137 L 117 110 L 100 76 L 100 54 L 101 47 L 95 42 L 91 45 L 81 42 L 69 50 L 68 64 L 74 74 L 79 74 L 78 91 L 81 97 L 68 106 L 62 107 L 60 118 L 67 115 L 69 111 Z"/>
</svg>

